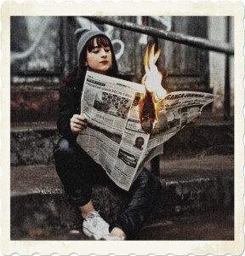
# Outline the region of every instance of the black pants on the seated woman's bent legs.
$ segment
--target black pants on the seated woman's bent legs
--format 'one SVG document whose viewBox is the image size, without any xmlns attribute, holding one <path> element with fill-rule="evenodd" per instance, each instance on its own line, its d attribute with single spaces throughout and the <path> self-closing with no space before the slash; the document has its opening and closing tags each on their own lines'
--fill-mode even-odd
<svg viewBox="0 0 245 256">
<path fill-rule="evenodd" d="M 104 169 L 76 142 L 61 138 L 54 148 L 54 160 L 69 201 L 77 207 L 82 207 L 90 201 L 95 183 L 116 186 Z M 161 189 L 158 178 L 143 169 L 128 191 L 131 200 L 127 209 L 119 214 L 114 224 L 111 224 L 110 231 L 117 226 L 125 232 L 128 239 L 134 238 L 151 207 L 157 204 Z"/>
</svg>

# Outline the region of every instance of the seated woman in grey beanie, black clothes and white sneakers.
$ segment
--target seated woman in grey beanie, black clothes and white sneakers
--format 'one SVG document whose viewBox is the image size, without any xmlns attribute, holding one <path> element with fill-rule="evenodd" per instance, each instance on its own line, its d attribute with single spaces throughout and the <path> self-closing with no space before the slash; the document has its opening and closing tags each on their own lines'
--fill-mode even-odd
<svg viewBox="0 0 245 256">
<path fill-rule="evenodd" d="M 79 62 L 68 74 L 66 86 L 60 88 L 57 126 L 63 137 L 54 148 L 56 171 L 69 201 L 82 213 L 85 235 L 94 236 L 96 240 L 134 239 L 151 206 L 155 205 L 161 183 L 143 169 L 128 191 L 131 201 L 127 209 L 119 214 L 115 223 L 107 224 L 95 211 L 91 200 L 94 183 L 100 181 L 105 185 L 116 185 L 112 184 L 103 168 L 77 145 L 77 134 L 88 125 L 85 117 L 80 115 L 81 91 L 87 70 L 118 77 L 117 61 L 111 41 L 103 32 L 78 29 L 75 35 Z"/>
</svg>

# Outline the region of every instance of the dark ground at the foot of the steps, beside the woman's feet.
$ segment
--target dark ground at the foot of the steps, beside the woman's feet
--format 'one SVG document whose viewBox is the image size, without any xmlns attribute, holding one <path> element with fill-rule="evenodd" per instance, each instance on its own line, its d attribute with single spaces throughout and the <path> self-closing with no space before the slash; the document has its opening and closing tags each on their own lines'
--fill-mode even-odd
<svg viewBox="0 0 245 256">
<path fill-rule="evenodd" d="M 88 241 L 80 228 L 31 229 L 15 232 L 11 240 Z M 145 224 L 135 240 L 147 241 L 232 241 L 234 240 L 234 214 L 232 211 L 208 211 L 182 216 L 166 217 Z"/>
</svg>

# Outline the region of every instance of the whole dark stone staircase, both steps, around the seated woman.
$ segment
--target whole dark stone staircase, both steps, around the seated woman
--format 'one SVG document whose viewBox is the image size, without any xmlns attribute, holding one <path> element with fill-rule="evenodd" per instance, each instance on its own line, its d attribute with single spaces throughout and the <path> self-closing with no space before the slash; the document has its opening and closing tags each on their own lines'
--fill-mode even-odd
<svg viewBox="0 0 245 256">
<path fill-rule="evenodd" d="M 232 127 L 232 121 L 203 115 L 196 125 L 179 131 L 165 143 L 160 157 L 162 193 L 159 205 L 152 209 L 145 224 L 187 213 L 219 209 L 232 212 Z M 30 230 L 81 227 L 80 213 L 67 202 L 55 172 L 52 150 L 59 137 L 54 122 L 11 125 L 11 237 L 14 240 L 34 239 Z M 146 167 L 151 168 L 150 164 Z M 93 190 L 94 207 L 100 209 L 109 223 L 127 205 L 128 196 L 121 192 L 101 186 Z"/>
</svg>

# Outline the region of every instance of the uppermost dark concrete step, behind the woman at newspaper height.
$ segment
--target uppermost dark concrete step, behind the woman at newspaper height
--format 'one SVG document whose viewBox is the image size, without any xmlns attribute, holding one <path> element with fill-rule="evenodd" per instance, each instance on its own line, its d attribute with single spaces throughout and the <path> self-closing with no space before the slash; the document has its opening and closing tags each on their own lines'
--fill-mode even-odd
<svg viewBox="0 0 245 256">
<path fill-rule="evenodd" d="M 196 125 L 185 127 L 164 144 L 164 157 L 233 154 L 233 135 L 232 121 L 204 115 Z M 55 122 L 11 124 L 11 165 L 54 163 L 52 151 L 59 138 Z"/>
</svg>

